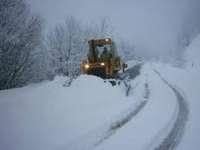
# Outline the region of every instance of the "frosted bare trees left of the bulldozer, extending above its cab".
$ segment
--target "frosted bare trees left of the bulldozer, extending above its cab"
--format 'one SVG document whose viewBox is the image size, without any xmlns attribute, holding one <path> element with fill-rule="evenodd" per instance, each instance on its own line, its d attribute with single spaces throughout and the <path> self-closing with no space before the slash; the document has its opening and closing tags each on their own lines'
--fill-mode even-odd
<svg viewBox="0 0 200 150">
<path fill-rule="evenodd" d="M 83 25 L 76 18 L 68 17 L 47 38 L 55 73 L 70 77 L 80 74 L 81 60 L 88 52 L 88 40 L 108 35 L 111 35 L 111 28 L 106 19 L 94 25 Z"/>
</svg>

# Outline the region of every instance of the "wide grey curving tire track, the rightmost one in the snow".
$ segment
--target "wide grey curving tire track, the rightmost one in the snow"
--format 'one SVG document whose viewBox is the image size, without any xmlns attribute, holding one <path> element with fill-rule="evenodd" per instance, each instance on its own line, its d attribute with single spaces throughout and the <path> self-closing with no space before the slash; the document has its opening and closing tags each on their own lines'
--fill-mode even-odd
<svg viewBox="0 0 200 150">
<path fill-rule="evenodd" d="M 178 102 L 178 115 L 175 119 L 174 125 L 168 135 L 163 139 L 159 146 L 154 148 L 154 150 L 173 150 L 180 143 L 183 137 L 185 125 L 189 116 L 189 108 L 186 99 L 183 94 L 181 94 L 180 90 L 166 81 L 157 70 L 154 69 L 154 72 L 169 88 L 172 89 Z"/>
</svg>

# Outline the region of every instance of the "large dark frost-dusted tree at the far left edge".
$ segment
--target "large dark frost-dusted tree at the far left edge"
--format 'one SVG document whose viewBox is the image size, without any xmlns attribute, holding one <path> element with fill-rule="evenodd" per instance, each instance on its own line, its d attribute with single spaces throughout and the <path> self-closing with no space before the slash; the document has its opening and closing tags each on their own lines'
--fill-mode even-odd
<svg viewBox="0 0 200 150">
<path fill-rule="evenodd" d="M 0 89 L 21 86 L 30 76 L 34 50 L 40 43 L 41 18 L 24 0 L 0 1 Z"/>
</svg>

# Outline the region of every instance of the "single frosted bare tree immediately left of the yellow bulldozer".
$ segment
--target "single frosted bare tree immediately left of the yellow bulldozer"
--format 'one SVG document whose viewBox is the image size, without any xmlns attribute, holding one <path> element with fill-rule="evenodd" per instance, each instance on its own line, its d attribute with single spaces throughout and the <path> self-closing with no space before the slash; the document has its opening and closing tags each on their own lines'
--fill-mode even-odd
<svg viewBox="0 0 200 150">
<path fill-rule="evenodd" d="M 75 69 L 76 65 L 79 66 L 76 59 L 81 57 L 84 51 L 82 34 L 80 22 L 74 17 L 68 17 L 65 24 L 57 26 L 48 35 L 47 46 L 56 73 L 71 76 L 72 69 Z"/>
</svg>

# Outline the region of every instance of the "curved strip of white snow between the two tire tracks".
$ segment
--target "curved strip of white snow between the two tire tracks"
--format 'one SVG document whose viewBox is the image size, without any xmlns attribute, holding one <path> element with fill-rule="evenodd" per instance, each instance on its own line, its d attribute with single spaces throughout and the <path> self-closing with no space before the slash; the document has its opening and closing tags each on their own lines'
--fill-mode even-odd
<svg viewBox="0 0 200 150">
<path fill-rule="evenodd" d="M 150 89 L 147 105 L 110 140 L 97 147 L 97 150 L 153 149 L 169 132 L 177 110 L 175 96 L 149 65 L 144 66 L 142 74 L 147 77 Z"/>
</svg>

